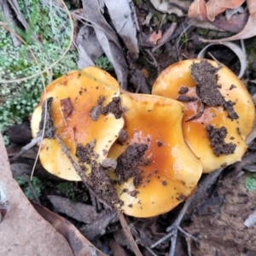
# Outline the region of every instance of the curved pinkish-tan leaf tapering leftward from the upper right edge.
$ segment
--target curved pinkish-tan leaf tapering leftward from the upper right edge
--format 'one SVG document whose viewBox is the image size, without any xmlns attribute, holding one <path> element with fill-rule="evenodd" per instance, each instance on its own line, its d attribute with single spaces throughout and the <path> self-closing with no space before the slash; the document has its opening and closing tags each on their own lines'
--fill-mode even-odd
<svg viewBox="0 0 256 256">
<path fill-rule="evenodd" d="M 253 16 L 250 15 L 247 21 L 247 25 L 243 28 L 241 32 L 237 33 L 236 35 L 230 38 L 222 38 L 216 40 L 200 38 L 200 41 L 205 43 L 222 43 L 227 41 L 253 38 L 254 36 L 256 36 L 256 18 L 253 18 Z"/>
</svg>

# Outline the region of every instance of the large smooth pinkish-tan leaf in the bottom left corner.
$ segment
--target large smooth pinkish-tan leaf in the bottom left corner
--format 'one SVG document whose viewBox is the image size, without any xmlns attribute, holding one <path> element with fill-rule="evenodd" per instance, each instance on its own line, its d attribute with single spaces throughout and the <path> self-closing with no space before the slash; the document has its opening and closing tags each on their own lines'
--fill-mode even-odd
<svg viewBox="0 0 256 256">
<path fill-rule="evenodd" d="M 0 195 L 9 201 L 0 223 L 1 255 L 73 255 L 66 239 L 35 211 L 12 177 L 1 134 L 0 155 Z"/>
</svg>

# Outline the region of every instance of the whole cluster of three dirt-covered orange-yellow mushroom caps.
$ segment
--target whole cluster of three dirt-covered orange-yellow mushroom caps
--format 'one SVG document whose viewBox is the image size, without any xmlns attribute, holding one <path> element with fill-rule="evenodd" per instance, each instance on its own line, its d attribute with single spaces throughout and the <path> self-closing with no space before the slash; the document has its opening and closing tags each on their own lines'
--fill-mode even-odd
<svg viewBox="0 0 256 256">
<path fill-rule="evenodd" d="M 227 67 L 191 60 L 161 73 L 153 95 L 120 94 L 97 67 L 67 73 L 47 86 L 31 126 L 33 137 L 44 132 L 48 172 L 79 181 L 78 163 L 108 205 L 145 218 L 184 201 L 202 172 L 240 160 L 253 119 L 253 102 Z"/>
</svg>

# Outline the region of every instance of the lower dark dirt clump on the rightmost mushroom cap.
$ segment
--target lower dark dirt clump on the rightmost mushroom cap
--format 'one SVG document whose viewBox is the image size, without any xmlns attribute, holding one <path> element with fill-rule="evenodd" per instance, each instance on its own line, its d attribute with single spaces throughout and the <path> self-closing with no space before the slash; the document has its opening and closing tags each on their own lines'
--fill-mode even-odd
<svg viewBox="0 0 256 256">
<path fill-rule="evenodd" d="M 235 143 L 225 143 L 224 138 L 227 136 L 227 128 L 222 126 L 221 128 L 214 128 L 212 125 L 207 125 L 207 137 L 210 139 L 210 145 L 213 153 L 216 156 L 221 154 L 233 154 L 236 150 Z"/>
</svg>

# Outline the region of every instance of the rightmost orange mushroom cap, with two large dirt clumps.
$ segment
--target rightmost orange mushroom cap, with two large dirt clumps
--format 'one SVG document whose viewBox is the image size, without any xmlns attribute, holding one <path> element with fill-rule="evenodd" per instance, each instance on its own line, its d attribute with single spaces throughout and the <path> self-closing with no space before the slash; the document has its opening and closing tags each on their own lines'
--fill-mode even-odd
<svg viewBox="0 0 256 256">
<path fill-rule="evenodd" d="M 215 69 L 212 77 L 207 68 Z M 220 99 L 220 102 L 224 100 L 224 106 L 205 103 L 204 111 L 196 118 L 202 105 L 195 80 L 206 81 L 207 78 L 215 86 L 207 87 L 207 90 L 218 90 L 221 96 L 216 96 L 216 99 Z M 205 59 L 177 62 L 160 74 L 152 93 L 186 101 L 183 102 L 186 108 L 183 135 L 191 151 L 201 160 L 203 172 L 212 172 L 220 166 L 241 160 L 247 149 L 245 139 L 253 129 L 255 109 L 247 89 L 228 67 Z M 214 102 L 215 96 L 211 97 Z M 229 106 L 231 116 L 227 110 Z M 232 117 L 233 113 L 235 115 Z"/>
</svg>

